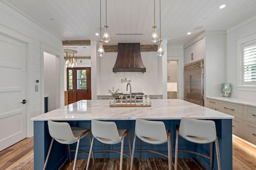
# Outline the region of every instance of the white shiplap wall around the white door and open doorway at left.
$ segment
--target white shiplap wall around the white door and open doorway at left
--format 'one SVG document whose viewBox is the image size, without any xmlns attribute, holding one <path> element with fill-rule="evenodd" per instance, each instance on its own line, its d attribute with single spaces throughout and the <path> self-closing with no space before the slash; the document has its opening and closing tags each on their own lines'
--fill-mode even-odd
<svg viewBox="0 0 256 170">
<path fill-rule="evenodd" d="M 0 33 L 26 43 L 26 99 L 27 103 L 27 136 L 33 135 L 32 117 L 44 113 L 44 78 L 43 78 L 43 51 L 63 55 L 62 39 L 49 33 L 34 22 L 15 12 L 4 3 L 0 2 Z M 60 65 L 64 66 L 64 59 L 60 58 Z M 60 68 L 60 81 L 64 81 L 64 68 Z M 36 84 L 35 80 L 39 80 Z M 35 91 L 35 85 L 39 91 Z M 64 83 L 60 82 L 59 100 L 64 106 Z"/>
</svg>

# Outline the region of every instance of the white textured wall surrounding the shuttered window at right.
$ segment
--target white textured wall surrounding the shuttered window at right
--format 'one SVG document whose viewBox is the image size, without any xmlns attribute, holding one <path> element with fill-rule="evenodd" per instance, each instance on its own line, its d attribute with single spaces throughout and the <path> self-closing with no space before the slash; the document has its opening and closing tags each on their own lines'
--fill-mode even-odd
<svg viewBox="0 0 256 170">
<path fill-rule="evenodd" d="M 237 90 L 237 40 L 256 33 L 256 15 L 227 29 L 227 83 L 232 84 L 232 98 L 256 100 L 256 92 Z"/>
</svg>

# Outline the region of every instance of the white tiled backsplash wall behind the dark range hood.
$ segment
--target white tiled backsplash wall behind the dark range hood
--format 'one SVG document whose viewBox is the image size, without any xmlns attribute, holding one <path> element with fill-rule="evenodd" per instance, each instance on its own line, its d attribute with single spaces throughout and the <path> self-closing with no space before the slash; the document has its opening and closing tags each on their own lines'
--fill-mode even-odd
<svg viewBox="0 0 256 170">
<path fill-rule="evenodd" d="M 97 56 L 98 57 L 98 56 Z M 141 57 L 146 72 L 116 72 L 112 68 L 116 63 L 117 53 L 105 53 L 100 57 L 101 71 L 98 95 L 110 95 L 108 90 L 114 86 L 120 89 L 119 92 L 126 93 L 128 82 L 121 82 L 121 79 L 131 80 L 132 92 L 144 92 L 144 94 L 162 94 L 159 90 L 160 81 L 158 80 L 158 56 L 156 52 L 141 52 Z M 129 87 L 130 88 L 130 87 Z M 128 89 L 129 91 L 129 89 Z"/>
</svg>

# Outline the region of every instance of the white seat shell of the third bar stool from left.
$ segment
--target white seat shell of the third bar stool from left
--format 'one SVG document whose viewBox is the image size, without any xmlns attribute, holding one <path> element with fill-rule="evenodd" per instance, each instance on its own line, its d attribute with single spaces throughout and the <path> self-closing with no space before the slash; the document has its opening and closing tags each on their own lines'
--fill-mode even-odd
<svg viewBox="0 0 256 170">
<path fill-rule="evenodd" d="M 150 144 L 162 144 L 168 140 L 162 121 L 136 119 L 135 133 L 140 140 Z"/>
</svg>

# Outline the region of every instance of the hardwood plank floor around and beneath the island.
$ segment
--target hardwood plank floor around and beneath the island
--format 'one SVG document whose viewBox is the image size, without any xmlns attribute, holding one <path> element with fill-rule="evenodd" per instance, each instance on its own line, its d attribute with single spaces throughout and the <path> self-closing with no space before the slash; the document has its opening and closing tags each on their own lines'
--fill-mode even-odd
<svg viewBox="0 0 256 170">
<path fill-rule="evenodd" d="M 233 170 L 256 170 L 256 146 L 250 145 L 246 141 L 233 136 Z M 33 137 L 26 138 L 11 147 L 0 152 L 0 170 L 33 170 Z M 86 167 L 86 159 L 78 159 L 76 163 L 77 170 L 83 170 Z M 96 159 L 95 167 L 97 170 L 118 170 L 120 159 L 107 159 L 104 165 L 104 159 Z M 166 158 L 143 158 L 141 165 L 138 159 L 134 159 L 134 170 L 164 170 L 168 167 Z M 196 158 L 179 158 L 179 170 L 206 170 Z M 73 162 L 70 165 L 67 161 L 60 170 L 72 170 Z M 130 167 L 130 161 L 127 158 L 123 160 L 123 169 Z M 90 170 L 92 161 L 90 162 Z"/>
</svg>

